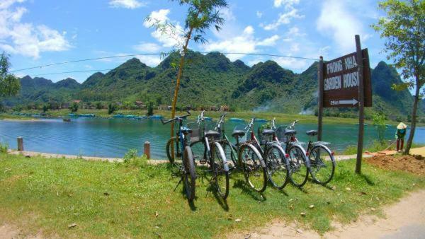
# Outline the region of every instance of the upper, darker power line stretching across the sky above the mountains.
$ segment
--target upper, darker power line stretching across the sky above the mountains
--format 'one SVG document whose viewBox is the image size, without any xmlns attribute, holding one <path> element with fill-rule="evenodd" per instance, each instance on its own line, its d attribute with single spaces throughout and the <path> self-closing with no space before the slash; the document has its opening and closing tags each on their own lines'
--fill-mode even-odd
<svg viewBox="0 0 425 239">
<path fill-rule="evenodd" d="M 200 53 L 208 54 L 208 53 L 211 53 L 211 52 L 200 52 Z M 313 60 L 313 61 L 318 60 L 318 59 L 313 59 L 313 58 L 308 58 L 308 57 L 294 57 L 294 56 L 286 56 L 286 55 L 278 55 L 278 54 L 259 54 L 259 53 L 242 53 L 242 52 L 220 52 L 220 53 L 222 53 L 222 54 L 246 54 L 246 55 L 251 55 L 251 56 L 259 56 L 259 57 L 285 57 L 285 58 L 292 58 L 292 59 L 308 59 L 308 60 Z M 119 58 L 119 57 L 137 57 L 137 56 L 154 56 L 154 55 L 163 55 L 163 54 L 162 53 L 123 54 L 123 55 L 116 55 L 116 56 L 109 56 L 109 57 L 77 59 L 77 60 L 67 61 L 67 62 L 57 62 L 57 63 L 52 63 L 52 64 L 40 65 L 40 66 L 31 66 L 31 67 L 28 67 L 28 68 L 13 70 L 13 71 L 10 71 L 10 72 L 13 73 L 13 72 L 16 72 L 16 71 L 26 71 L 26 70 L 30 70 L 30 69 L 38 69 L 38 68 L 47 67 L 47 66 L 57 66 L 57 65 L 61 65 L 61 64 L 69 64 L 69 63 L 75 63 L 75 62 L 88 62 L 88 61 L 94 61 L 94 60 L 99 60 L 99 59 L 111 59 L 111 58 Z"/>
</svg>

